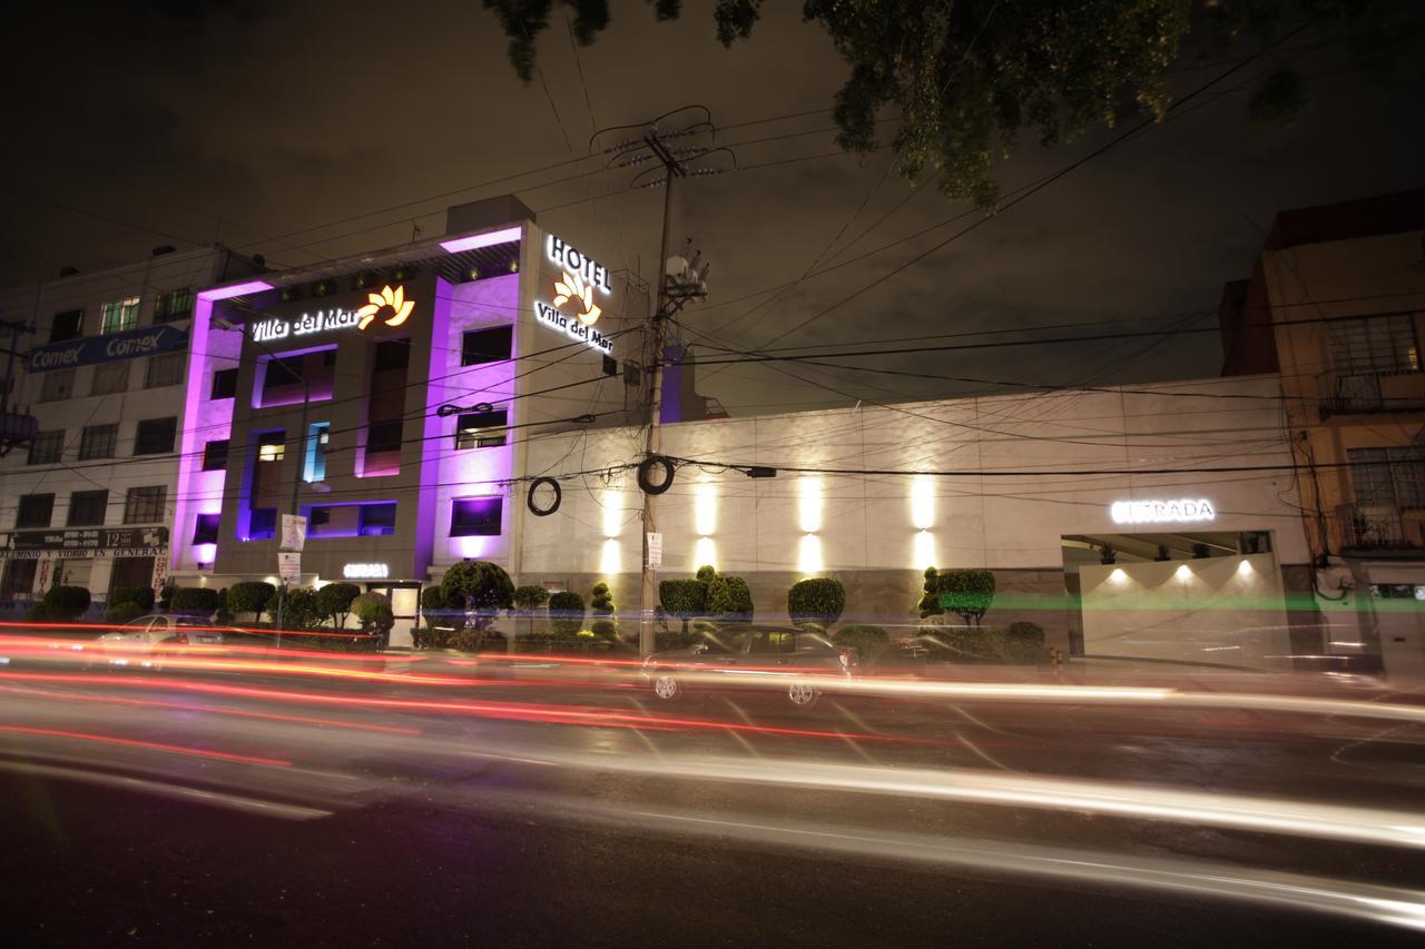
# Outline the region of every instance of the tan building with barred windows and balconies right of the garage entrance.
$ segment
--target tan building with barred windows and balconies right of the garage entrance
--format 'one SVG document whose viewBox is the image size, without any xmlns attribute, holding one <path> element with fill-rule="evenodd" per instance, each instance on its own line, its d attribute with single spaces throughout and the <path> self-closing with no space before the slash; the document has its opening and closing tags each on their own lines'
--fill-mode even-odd
<svg viewBox="0 0 1425 949">
<path fill-rule="evenodd" d="M 1321 648 L 1425 677 L 1425 190 L 1282 211 L 1221 321 L 1281 373 Z"/>
</svg>

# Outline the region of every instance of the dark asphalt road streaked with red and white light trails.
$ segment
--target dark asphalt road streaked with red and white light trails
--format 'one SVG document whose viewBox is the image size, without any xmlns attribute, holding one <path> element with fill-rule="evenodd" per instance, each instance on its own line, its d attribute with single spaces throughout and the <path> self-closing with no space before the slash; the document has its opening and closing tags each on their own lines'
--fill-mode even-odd
<svg viewBox="0 0 1425 949">
<path fill-rule="evenodd" d="M 807 711 L 757 693 L 660 707 L 630 675 L 543 663 L 46 660 L 0 670 L 14 945 L 1418 945 L 1425 928 L 1412 697 L 1184 678 L 1127 704 L 1112 690 L 1143 680 Z"/>
</svg>

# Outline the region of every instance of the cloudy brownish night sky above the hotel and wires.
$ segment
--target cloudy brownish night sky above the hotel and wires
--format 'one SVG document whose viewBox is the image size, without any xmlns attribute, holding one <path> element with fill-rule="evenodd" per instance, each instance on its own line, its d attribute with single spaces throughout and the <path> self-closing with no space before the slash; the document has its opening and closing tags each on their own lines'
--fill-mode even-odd
<svg viewBox="0 0 1425 949">
<path fill-rule="evenodd" d="M 829 40 L 799 21 L 795 3 L 768 4 L 752 38 L 724 50 L 711 3 L 685 3 L 680 21 L 658 24 L 643 0 L 627 0 L 577 54 L 556 4 L 539 43 L 543 83 L 529 87 L 509 66 L 494 16 L 475 0 L 44 6 L 56 9 L 23 14 L 28 19 L 10 30 L 13 95 L 0 155 L 4 285 L 53 278 L 63 265 L 94 271 L 141 261 L 161 244 L 217 239 L 269 264 L 312 264 L 409 241 L 413 225 L 437 234 L 446 205 L 507 191 L 534 208 L 540 224 L 613 266 L 647 272 L 663 194 L 624 191 L 628 171 L 557 184 L 576 172 L 563 165 L 486 182 L 583 155 L 597 127 L 690 103 L 712 111 L 725 130 L 720 144 L 751 142 L 735 148 L 744 167 L 781 162 L 691 180 L 678 195 L 675 244 L 693 237 L 712 261 L 712 295 L 685 312 L 685 322 L 727 345 L 765 345 L 975 219 L 933 185 L 884 217 L 912 185 L 888 174 L 889 151 L 817 158 L 835 151 L 822 131 L 829 113 L 747 124 L 826 110 L 845 78 Z M 1216 309 L 1224 281 L 1247 275 L 1275 211 L 1425 184 L 1425 124 L 1416 117 L 1425 78 L 1372 84 L 1342 68 L 1338 51 L 1288 44 L 1201 107 L 772 345 L 1170 316 L 1181 322 L 1124 326 L 1211 325 L 1201 315 Z M 1312 104 L 1290 130 L 1255 130 L 1247 81 L 1282 60 L 1311 78 Z M 1226 64 L 1203 66 L 1190 54 L 1174 88 L 1186 93 Z M 1033 181 L 1107 135 L 1046 150 L 1027 133 L 1003 164 L 1002 184 Z M 804 157 L 811 158 L 788 161 Z M 584 161 L 577 171 L 597 167 Z M 343 221 L 393 205 L 409 207 Z M 750 295 L 795 281 L 818 258 L 824 266 L 966 212 L 748 312 L 768 299 Z M 1216 336 L 1198 333 L 875 365 L 1082 383 L 1216 375 L 1220 361 Z M 703 389 L 737 415 L 849 396 L 884 402 L 986 390 L 794 372 L 838 392 L 745 365 L 712 375 Z"/>
</svg>

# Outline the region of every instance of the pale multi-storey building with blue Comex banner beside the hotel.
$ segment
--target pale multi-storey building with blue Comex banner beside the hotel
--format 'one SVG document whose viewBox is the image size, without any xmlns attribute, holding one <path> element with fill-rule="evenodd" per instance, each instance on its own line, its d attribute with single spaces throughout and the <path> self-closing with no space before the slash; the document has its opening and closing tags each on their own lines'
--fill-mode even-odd
<svg viewBox="0 0 1425 949">
<path fill-rule="evenodd" d="M 184 370 L 197 289 L 258 269 L 227 248 L 158 248 L 0 295 L 7 399 L 38 420 L 0 459 L 0 603 L 56 584 L 157 587 L 168 569 Z"/>
</svg>

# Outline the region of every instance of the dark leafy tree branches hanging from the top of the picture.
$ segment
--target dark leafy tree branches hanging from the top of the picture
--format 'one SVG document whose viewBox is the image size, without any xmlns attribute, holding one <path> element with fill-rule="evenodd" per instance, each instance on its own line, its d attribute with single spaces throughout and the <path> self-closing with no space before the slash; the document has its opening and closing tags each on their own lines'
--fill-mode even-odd
<svg viewBox="0 0 1425 949">
<path fill-rule="evenodd" d="M 509 37 L 514 71 L 534 78 L 536 38 L 554 0 L 483 0 Z M 674 20 L 681 0 L 648 0 Z M 821 27 L 849 67 L 835 95 L 838 144 L 854 152 L 891 145 L 912 181 L 940 172 L 949 198 L 993 208 L 996 154 L 1013 151 L 1022 128 L 1045 144 L 1113 127 L 1131 100 L 1161 118 L 1168 67 L 1190 30 L 1204 53 L 1244 36 L 1270 40 L 1307 23 L 1345 34 L 1352 64 L 1371 74 L 1409 61 L 1418 47 L 1414 0 L 804 0 L 802 19 Z M 563 0 L 579 43 L 608 27 L 608 0 Z M 722 46 L 751 36 L 764 0 L 718 0 L 712 19 Z M 1250 110 L 1261 127 L 1288 124 L 1305 105 L 1300 77 L 1267 77 Z"/>
</svg>

